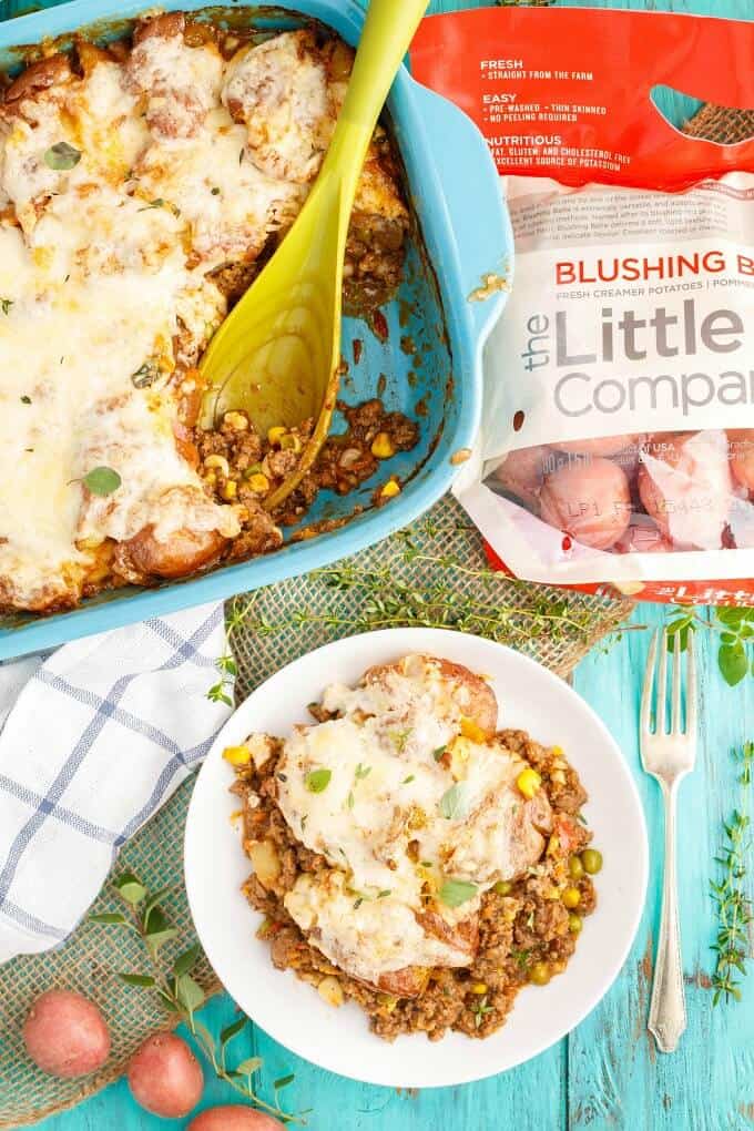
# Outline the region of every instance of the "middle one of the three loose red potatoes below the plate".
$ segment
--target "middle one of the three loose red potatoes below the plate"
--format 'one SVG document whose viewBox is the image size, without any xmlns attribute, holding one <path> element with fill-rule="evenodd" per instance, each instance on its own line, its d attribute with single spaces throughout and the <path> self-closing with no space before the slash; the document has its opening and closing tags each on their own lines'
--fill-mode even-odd
<svg viewBox="0 0 754 1131">
<path fill-rule="evenodd" d="M 128 1082 L 137 1104 L 153 1115 L 173 1120 L 188 1115 L 205 1088 L 199 1061 L 173 1033 L 147 1037 L 131 1057 Z"/>
</svg>

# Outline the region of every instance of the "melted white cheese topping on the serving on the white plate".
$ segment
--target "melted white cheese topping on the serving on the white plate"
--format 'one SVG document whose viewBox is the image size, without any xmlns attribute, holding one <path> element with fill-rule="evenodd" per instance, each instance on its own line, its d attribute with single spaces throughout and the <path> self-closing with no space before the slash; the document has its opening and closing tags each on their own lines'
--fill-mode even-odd
<svg viewBox="0 0 754 1131">
<path fill-rule="evenodd" d="M 539 860 L 552 819 L 544 793 L 527 802 L 517 789 L 521 759 L 497 739 L 461 737 L 458 684 L 424 657 L 401 666 L 329 688 L 323 707 L 340 717 L 298 727 L 277 766 L 286 821 L 331 867 L 301 875 L 286 908 L 372 984 L 409 966 L 468 965 L 459 926 L 492 884 Z M 466 886 L 457 906 L 448 881 Z"/>
</svg>

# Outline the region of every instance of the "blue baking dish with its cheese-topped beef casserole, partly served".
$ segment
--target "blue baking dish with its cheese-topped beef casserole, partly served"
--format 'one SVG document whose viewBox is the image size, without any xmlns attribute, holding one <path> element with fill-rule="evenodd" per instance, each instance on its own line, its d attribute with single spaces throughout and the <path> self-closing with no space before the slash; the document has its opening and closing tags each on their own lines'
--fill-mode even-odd
<svg viewBox="0 0 754 1131">
<path fill-rule="evenodd" d="M 228 414 L 205 432 L 196 366 L 317 176 L 353 62 L 337 32 L 355 42 L 363 14 L 111 7 L 0 27 L 0 655 L 253 588 L 410 520 L 471 440 L 502 303 L 466 301 L 510 235 L 484 143 L 404 72 L 349 236 L 343 412 L 268 515 L 311 424 L 259 435 Z M 484 260 L 452 178 L 437 208 L 434 130 L 489 175 Z"/>
</svg>

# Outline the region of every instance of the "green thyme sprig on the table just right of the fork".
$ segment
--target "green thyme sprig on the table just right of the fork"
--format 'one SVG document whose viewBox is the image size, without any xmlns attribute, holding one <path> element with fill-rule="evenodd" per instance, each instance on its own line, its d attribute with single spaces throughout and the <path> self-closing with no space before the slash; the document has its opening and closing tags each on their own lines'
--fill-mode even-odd
<svg viewBox="0 0 754 1131">
<path fill-rule="evenodd" d="M 740 976 L 746 975 L 749 957 L 748 929 L 754 923 L 752 904 L 746 893 L 746 860 L 752 848 L 751 818 L 745 812 L 754 778 L 754 742 L 734 751 L 738 765 L 740 809 L 722 824 L 725 839 L 714 857 L 718 878 L 710 881 L 710 895 L 718 918 L 718 933 L 712 950 L 717 955 L 712 974 L 714 1005 L 722 1001 L 740 1001 Z M 742 810 L 744 810 L 742 812 Z"/>
</svg>

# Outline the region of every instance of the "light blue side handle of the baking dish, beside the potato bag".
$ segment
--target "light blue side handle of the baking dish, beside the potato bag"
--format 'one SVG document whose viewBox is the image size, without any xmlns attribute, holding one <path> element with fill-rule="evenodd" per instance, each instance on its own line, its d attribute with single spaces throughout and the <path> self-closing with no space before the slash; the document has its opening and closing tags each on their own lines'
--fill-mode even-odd
<svg viewBox="0 0 754 1131">
<path fill-rule="evenodd" d="M 500 174 L 487 143 L 462 110 L 416 80 L 414 97 L 456 238 L 459 299 L 483 344 L 513 282 L 513 231 Z"/>
</svg>

